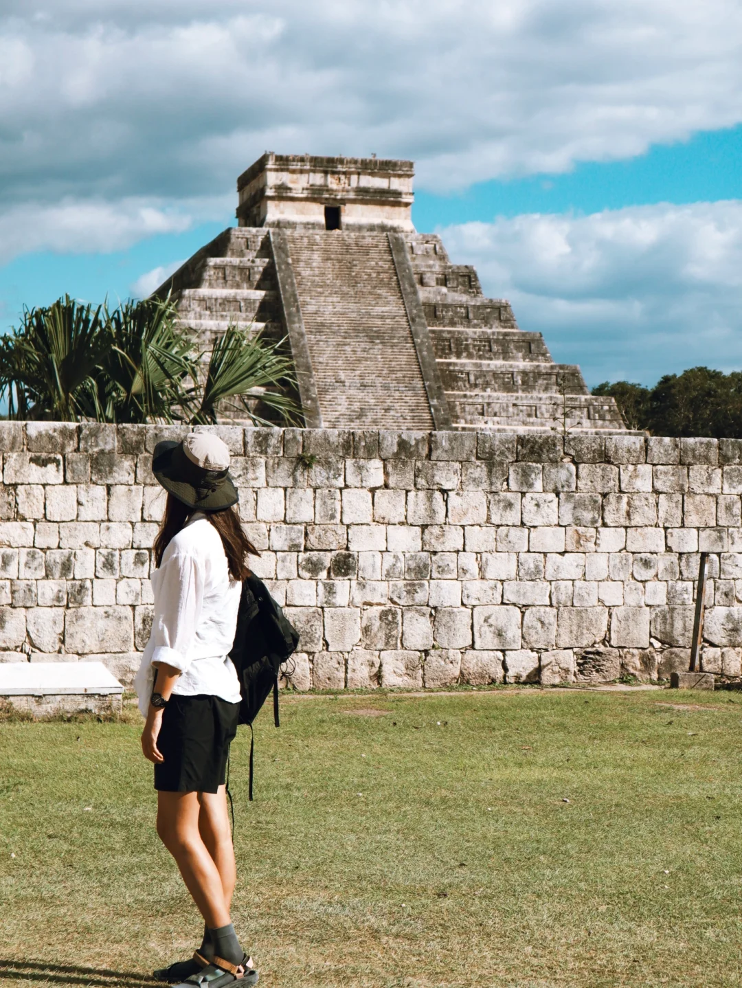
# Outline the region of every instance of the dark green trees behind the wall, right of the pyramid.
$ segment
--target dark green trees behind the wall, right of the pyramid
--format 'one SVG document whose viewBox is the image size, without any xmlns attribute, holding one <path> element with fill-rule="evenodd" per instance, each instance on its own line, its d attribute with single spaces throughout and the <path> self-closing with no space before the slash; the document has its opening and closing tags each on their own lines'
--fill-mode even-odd
<svg viewBox="0 0 742 988">
<path fill-rule="evenodd" d="M 665 374 L 654 387 L 604 381 L 593 394 L 616 398 L 629 429 L 655 436 L 742 437 L 742 372 L 691 368 Z"/>
</svg>

